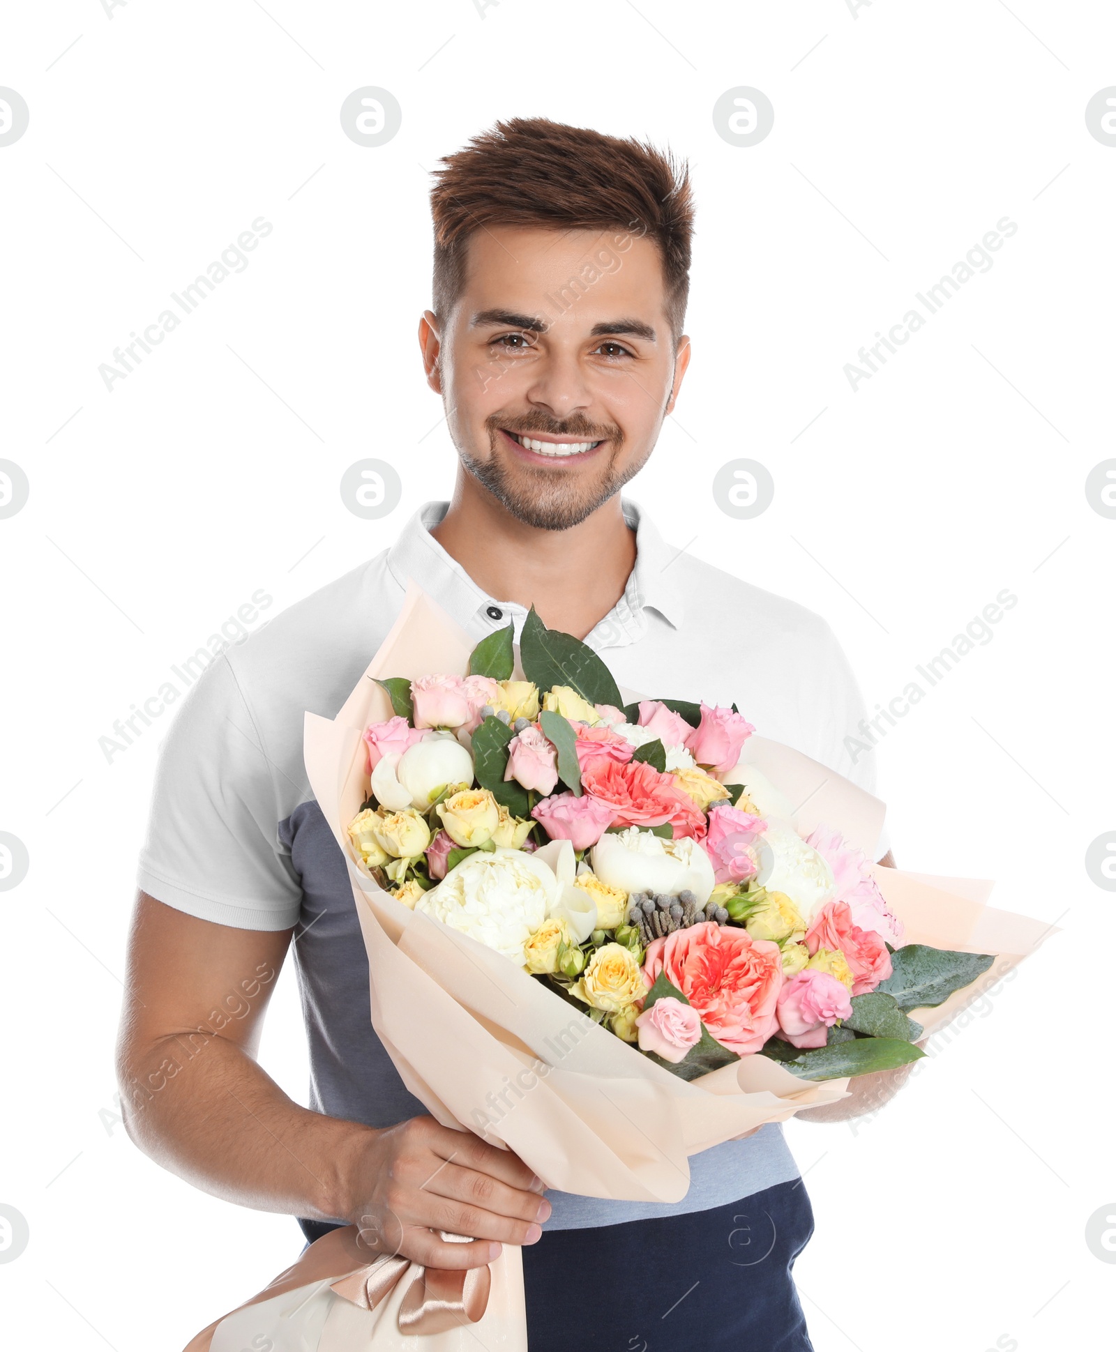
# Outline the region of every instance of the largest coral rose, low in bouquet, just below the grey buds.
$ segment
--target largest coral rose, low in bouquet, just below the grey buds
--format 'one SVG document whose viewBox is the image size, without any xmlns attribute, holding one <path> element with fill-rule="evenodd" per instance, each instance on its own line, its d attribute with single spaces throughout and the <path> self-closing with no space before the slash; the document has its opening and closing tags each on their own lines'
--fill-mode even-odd
<svg viewBox="0 0 1116 1352">
<path fill-rule="evenodd" d="M 758 1052 L 775 1032 L 775 1003 L 783 987 L 778 944 L 753 940 L 735 925 L 703 921 L 655 940 L 644 956 L 648 990 L 660 972 L 682 991 L 710 1034 L 737 1056 Z"/>
</svg>

